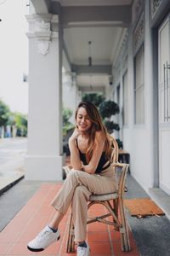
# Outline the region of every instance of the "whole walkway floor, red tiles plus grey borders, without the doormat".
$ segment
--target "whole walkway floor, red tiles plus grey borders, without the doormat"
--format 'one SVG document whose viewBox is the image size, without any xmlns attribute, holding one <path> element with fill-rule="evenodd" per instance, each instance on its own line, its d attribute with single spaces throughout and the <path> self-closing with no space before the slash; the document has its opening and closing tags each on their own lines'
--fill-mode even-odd
<svg viewBox="0 0 170 256">
<path fill-rule="evenodd" d="M 66 253 L 65 249 L 70 212 L 60 225 L 61 238 L 58 243 L 54 243 L 42 253 L 31 253 L 26 248 L 27 242 L 47 224 L 50 216 L 54 214 L 54 209 L 49 206 L 49 203 L 60 186 L 61 183 L 28 182 L 23 179 L 0 197 L 0 214 L 2 215 L 0 215 L 0 224 L 2 229 L 5 227 L 0 233 L 0 255 L 76 255 Z M 127 198 L 148 197 L 129 174 L 127 187 Z M 102 211 L 102 209 L 97 207 L 95 211 Z M 11 216 L 10 220 L 5 221 L 8 217 L 7 212 L 13 212 L 14 218 Z M 129 253 L 121 251 L 119 233 L 113 228 L 105 224 L 89 224 L 88 241 L 91 255 L 170 255 L 170 222 L 166 216 L 138 219 L 128 215 L 128 223 L 132 230 L 130 232 L 132 250 Z"/>
</svg>

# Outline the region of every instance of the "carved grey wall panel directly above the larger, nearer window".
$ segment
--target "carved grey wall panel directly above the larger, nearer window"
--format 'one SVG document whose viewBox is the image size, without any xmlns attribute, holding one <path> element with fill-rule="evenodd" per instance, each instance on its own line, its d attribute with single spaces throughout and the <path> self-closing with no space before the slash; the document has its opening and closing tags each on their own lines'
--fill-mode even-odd
<svg viewBox="0 0 170 256">
<path fill-rule="evenodd" d="M 144 41 L 144 12 L 140 16 L 139 22 L 133 32 L 133 52 L 139 48 Z"/>
</svg>

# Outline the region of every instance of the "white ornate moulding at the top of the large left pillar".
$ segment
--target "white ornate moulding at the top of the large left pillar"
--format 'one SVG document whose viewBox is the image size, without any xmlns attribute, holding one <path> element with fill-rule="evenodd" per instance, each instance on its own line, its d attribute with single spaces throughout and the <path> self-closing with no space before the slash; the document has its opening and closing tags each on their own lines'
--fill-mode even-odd
<svg viewBox="0 0 170 256">
<path fill-rule="evenodd" d="M 26 19 L 29 22 L 27 37 L 36 38 L 37 52 L 47 55 L 51 40 L 59 36 L 58 15 L 26 15 Z"/>
</svg>

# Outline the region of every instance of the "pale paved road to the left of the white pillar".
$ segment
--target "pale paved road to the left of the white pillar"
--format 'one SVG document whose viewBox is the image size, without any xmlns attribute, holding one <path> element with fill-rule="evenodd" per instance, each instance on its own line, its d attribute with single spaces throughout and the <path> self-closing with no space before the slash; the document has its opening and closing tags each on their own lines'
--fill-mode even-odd
<svg viewBox="0 0 170 256">
<path fill-rule="evenodd" d="M 25 172 L 27 138 L 0 139 L 0 189 Z"/>
</svg>

